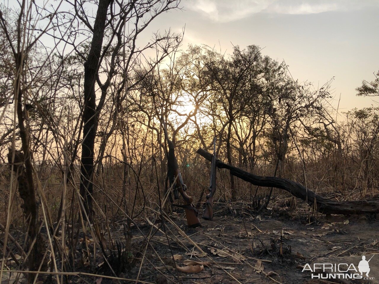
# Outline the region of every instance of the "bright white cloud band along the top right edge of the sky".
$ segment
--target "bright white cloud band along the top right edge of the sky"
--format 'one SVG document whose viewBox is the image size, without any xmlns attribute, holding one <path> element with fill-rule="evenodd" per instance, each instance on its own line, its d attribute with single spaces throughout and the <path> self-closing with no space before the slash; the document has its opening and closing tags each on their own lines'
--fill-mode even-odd
<svg viewBox="0 0 379 284">
<path fill-rule="evenodd" d="M 377 0 L 193 0 L 190 9 L 214 22 L 232 22 L 257 13 L 305 15 L 379 6 Z"/>
</svg>

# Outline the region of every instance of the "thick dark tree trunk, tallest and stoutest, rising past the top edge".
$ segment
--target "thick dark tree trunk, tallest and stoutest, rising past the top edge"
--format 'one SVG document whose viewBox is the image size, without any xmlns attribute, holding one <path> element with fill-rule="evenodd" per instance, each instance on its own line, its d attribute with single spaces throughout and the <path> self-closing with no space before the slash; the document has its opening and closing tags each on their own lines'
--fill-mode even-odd
<svg viewBox="0 0 379 284">
<path fill-rule="evenodd" d="M 84 63 L 84 126 L 83 142 L 81 144 L 80 195 L 84 199 L 85 211 L 89 215 L 91 215 L 92 212 L 94 147 L 98 124 L 95 83 L 103 45 L 105 20 L 110 3 L 111 0 L 99 0 L 91 48 L 88 53 L 87 61 Z"/>
</svg>

